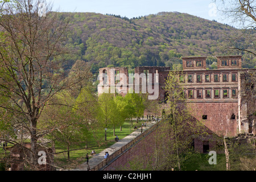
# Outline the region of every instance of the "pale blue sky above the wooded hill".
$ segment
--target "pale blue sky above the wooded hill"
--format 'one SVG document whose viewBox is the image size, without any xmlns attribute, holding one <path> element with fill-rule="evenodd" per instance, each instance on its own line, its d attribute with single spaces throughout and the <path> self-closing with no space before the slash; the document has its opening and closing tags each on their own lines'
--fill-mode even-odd
<svg viewBox="0 0 256 182">
<path fill-rule="evenodd" d="M 133 18 L 162 11 L 188 13 L 204 19 L 228 23 L 214 11 L 212 0 L 47 0 L 52 2 L 53 10 L 60 12 L 94 12 L 115 14 Z"/>
</svg>

